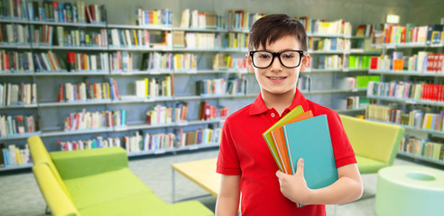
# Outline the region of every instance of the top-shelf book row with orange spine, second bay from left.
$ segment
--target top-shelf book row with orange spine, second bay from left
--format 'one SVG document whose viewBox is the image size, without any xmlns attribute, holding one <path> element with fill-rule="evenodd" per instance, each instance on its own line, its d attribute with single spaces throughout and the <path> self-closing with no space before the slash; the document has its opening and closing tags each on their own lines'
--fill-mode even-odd
<svg viewBox="0 0 444 216">
<path fill-rule="evenodd" d="M 172 11 L 169 9 L 148 10 L 137 9 L 138 25 L 172 25 Z"/>
</svg>

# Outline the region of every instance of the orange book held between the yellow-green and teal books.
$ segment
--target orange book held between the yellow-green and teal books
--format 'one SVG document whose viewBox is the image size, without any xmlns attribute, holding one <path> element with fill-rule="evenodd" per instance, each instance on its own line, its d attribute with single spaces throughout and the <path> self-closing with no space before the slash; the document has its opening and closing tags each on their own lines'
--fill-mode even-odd
<svg viewBox="0 0 444 216">
<path fill-rule="evenodd" d="M 294 123 L 296 121 L 306 120 L 311 117 L 313 117 L 313 112 L 311 112 L 311 111 L 303 112 L 300 115 L 291 119 L 291 121 L 286 122 L 285 124 L 290 124 L 290 123 Z M 287 147 L 285 144 L 285 139 L 283 137 L 282 126 L 272 130 L 271 135 L 273 138 L 274 145 L 277 149 L 278 156 L 281 159 L 284 173 L 289 174 L 289 175 L 293 175 L 294 170 L 291 168 L 290 158 L 288 156 L 288 151 L 287 151 Z"/>
</svg>

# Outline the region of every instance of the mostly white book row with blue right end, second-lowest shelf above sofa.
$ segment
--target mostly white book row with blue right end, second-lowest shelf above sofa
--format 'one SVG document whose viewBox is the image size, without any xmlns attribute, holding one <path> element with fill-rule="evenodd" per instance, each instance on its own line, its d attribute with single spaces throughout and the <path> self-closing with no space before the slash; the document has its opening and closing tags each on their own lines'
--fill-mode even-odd
<svg viewBox="0 0 444 216">
<path fill-rule="evenodd" d="M 126 111 L 87 112 L 83 109 L 82 112 L 70 113 L 64 125 L 65 131 L 122 127 L 126 125 Z"/>
</svg>

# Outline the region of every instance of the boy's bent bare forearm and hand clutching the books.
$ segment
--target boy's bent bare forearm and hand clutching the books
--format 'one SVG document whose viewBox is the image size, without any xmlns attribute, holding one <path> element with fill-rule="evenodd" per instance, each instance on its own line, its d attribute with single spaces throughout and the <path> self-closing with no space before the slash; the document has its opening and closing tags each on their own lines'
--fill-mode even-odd
<svg viewBox="0 0 444 216">
<path fill-rule="evenodd" d="M 340 204 L 359 199 L 363 193 L 361 175 L 356 164 L 338 167 L 338 181 L 327 187 L 310 189 L 303 176 L 303 160 L 298 161 L 294 175 L 276 172 L 282 194 L 302 204 Z"/>
</svg>

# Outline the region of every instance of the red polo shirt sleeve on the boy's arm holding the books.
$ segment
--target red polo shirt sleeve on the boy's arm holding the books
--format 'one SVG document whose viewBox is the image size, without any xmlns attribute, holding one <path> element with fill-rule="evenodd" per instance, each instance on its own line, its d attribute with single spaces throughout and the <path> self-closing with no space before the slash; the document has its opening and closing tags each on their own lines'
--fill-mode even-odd
<svg viewBox="0 0 444 216">
<path fill-rule="evenodd" d="M 340 167 L 356 163 L 355 152 L 347 138 L 346 130 L 344 130 L 338 112 L 331 111 L 328 113 L 328 128 L 330 130 L 336 166 Z"/>
</svg>

